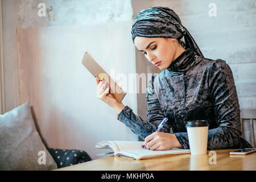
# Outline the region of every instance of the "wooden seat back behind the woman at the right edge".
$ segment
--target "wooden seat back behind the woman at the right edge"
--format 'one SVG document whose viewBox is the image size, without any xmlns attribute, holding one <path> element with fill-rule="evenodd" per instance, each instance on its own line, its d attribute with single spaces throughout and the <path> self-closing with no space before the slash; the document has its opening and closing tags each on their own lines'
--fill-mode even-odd
<svg viewBox="0 0 256 182">
<path fill-rule="evenodd" d="M 240 117 L 242 138 L 255 148 L 254 121 L 256 121 L 256 109 L 241 109 Z"/>
</svg>

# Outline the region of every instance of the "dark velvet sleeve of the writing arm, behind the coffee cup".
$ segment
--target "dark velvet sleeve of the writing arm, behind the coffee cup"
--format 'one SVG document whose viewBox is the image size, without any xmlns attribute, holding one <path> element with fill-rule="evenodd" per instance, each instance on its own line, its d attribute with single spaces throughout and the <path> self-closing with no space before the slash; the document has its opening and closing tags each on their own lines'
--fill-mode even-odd
<svg viewBox="0 0 256 182">
<path fill-rule="evenodd" d="M 228 64 L 216 60 L 208 70 L 208 90 L 217 122 L 208 132 L 208 149 L 242 147 L 240 106 L 232 71 Z M 187 133 L 175 134 L 183 148 L 189 148 Z"/>
</svg>

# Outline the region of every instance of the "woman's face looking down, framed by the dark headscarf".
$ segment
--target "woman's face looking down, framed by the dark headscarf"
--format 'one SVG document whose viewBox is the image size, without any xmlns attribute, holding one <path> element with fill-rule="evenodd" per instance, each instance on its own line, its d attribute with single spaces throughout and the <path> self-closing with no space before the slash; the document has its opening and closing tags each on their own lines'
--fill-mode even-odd
<svg viewBox="0 0 256 182">
<path fill-rule="evenodd" d="M 136 36 L 134 44 L 144 56 L 160 69 L 166 69 L 177 57 L 177 39 Z"/>
</svg>

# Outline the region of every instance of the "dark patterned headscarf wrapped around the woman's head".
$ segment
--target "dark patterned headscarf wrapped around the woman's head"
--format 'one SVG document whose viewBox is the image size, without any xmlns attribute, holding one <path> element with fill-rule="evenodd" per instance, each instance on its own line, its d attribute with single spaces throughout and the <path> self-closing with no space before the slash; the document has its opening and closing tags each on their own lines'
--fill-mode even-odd
<svg viewBox="0 0 256 182">
<path fill-rule="evenodd" d="M 131 35 L 147 38 L 174 38 L 184 37 L 185 48 L 190 48 L 196 55 L 204 57 L 195 40 L 188 30 L 181 24 L 179 16 L 168 7 L 150 7 L 142 10 L 134 19 L 131 26 Z"/>
</svg>

